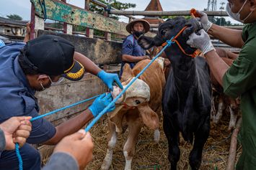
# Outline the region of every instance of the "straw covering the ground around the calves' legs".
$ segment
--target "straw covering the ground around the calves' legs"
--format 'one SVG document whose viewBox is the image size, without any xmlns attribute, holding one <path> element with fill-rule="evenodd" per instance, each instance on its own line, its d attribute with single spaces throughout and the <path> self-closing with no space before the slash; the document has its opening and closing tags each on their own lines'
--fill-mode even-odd
<svg viewBox="0 0 256 170">
<path fill-rule="evenodd" d="M 211 123 L 210 136 L 203 149 L 203 160 L 200 169 L 213 170 L 225 169 L 226 161 L 229 156 L 229 145 L 231 141 L 231 132 L 228 131 L 229 115 L 224 115 L 221 121 L 216 125 Z M 94 138 L 94 157 L 93 161 L 87 166 L 87 169 L 100 169 L 107 151 L 107 117 L 103 117 L 100 122 L 90 131 Z M 161 138 L 159 143 L 153 140 L 154 131 L 148 128 L 142 128 L 136 144 L 136 153 L 132 161 L 132 169 L 169 169 L 167 159 L 168 144 L 164 136 L 162 123 L 160 125 Z M 123 156 L 123 145 L 127 138 L 127 131 L 118 136 L 118 141 L 113 153 L 111 170 L 124 169 L 125 157 Z M 178 169 L 190 169 L 188 156 L 192 146 L 190 143 L 180 140 L 180 161 Z M 240 145 L 237 147 L 237 159 L 242 152 Z M 237 161 L 236 159 L 236 161 Z"/>
</svg>

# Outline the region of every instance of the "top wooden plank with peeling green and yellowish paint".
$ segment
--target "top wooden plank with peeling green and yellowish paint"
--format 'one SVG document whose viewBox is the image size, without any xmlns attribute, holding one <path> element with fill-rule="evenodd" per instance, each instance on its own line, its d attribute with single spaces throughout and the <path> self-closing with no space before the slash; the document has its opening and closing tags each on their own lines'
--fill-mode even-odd
<svg viewBox="0 0 256 170">
<path fill-rule="evenodd" d="M 44 17 L 40 1 L 30 0 L 35 6 L 35 14 Z M 59 22 L 68 24 L 81 25 L 91 29 L 99 29 L 104 32 L 113 32 L 115 34 L 128 35 L 125 30 L 125 23 L 118 22 L 115 19 L 110 19 L 100 14 L 95 14 L 91 11 L 86 11 L 71 4 L 65 4 L 57 0 L 45 0 L 46 16 L 48 19 L 53 19 Z"/>
</svg>

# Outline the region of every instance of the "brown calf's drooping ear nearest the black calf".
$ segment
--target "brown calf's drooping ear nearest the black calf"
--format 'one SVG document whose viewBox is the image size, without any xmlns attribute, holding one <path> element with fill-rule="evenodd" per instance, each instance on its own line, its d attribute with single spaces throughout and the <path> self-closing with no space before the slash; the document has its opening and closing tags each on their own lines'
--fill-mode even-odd
<svg viewBox="0 0 256 170">
<path fill-rule="evenodd" d="M 156 130 L 156 128 L 159 128 L 159 117 L 149 107 L 149 103 L 144 103 L 141 105 L 138 105 L 138 111 L 141 115 L 143 123 L 150 129 Z"/>
</svg>

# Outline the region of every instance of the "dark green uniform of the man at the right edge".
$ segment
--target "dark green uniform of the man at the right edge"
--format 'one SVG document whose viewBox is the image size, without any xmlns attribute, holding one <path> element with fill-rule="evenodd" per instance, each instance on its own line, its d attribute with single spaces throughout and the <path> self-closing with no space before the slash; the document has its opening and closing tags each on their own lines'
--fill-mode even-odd
<svg viewBox="0 0 256 170">
<path fill-rule="evenodd" d="M 256 23 L 247 24 L 242 31 L 244 46 L 237 60 L 223 77 L 224 93 L 241 97 L 242 128 L 239 141 L 242 156 L 237 169 L 256 169 Z"/>
</svg>

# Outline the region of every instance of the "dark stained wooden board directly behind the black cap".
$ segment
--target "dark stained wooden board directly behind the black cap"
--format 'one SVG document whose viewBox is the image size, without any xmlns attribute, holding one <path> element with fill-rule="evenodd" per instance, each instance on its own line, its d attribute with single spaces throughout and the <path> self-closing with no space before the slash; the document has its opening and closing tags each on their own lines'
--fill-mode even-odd
<svg viewBox="0 0 256 170">
<path fill-rule="evenodd" d="M 75 46 L 76 52 L 87 56 L 94 63 L 99 65 L 115 64 L 121 62 L 121 42 L 109 42 L 102 39 L 79 37 L 70 34 L 38 30 L 38 36 L 42 34 L 55 34 L 68 39 Z"/>
</svg>

